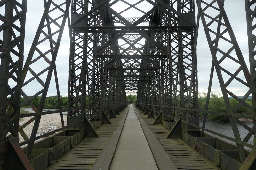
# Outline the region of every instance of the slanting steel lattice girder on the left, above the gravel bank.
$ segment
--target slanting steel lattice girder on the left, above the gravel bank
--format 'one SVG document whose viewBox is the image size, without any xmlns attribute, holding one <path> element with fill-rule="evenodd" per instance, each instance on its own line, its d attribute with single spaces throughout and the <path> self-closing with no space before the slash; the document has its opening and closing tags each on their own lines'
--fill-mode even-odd
<svg viewBox="0 0 256 170">
<path fill-rule="evenodd" d="M 26 63 L 24 65 L 23 72 L 22 72 L 22 75 L 23 75 L 22 82 L 24 82 L 26 76 L 29 76 L 28 72 L 30 72 L 30 74 L 33 75 L 32 78 L 30 78 L 28 81 L 25 81 L 23 83 L 23 88 L 26 88 L 25 85 L 29 85 L 29 83 L 32 80 L 37 80 L 38 84 L 42 86 L 42 90 L 39 92 L 36 92 L 35 95 L 33 95 L 33 97 L 31 98 L 29 98 L 24 91 L 22 91 L 21 93 L 22 96 L 27 100 L 26 103 L 23 103 L 23 105 L 21 106 L 24 106 L 25 104 L 29 103 L 35 112 L 43 111 L 45 98 L 47 96 L 50 81 L 52 78 L 52 73 L 54 73 L 54 78 L 55 78 L 56 90 L 58 94 L 59 107 L 60 107 L 59 109 L 62 110 L 61 104 L 60 104 L 60 92 L 59 92 L 55 61 L 58 54 L 58 49 L 60 47 L 60 41 L 62 38 L 64 26 L 68 18 L 68 9 L 69 9 L 70 3 L 71 3 L 70 0 L 69 1 L 63 0 L 61 2 L 60 1 L 55 2 L 54 0 L 44 1 L 44 7 L 45 7 L 44 14 L 40 21 L 35 39 L 28 53 L 28 58 L 26 60 Z M 62 9 L 62 7 L 64 9 Z M 61 12 L 59 13 L 59 11 Z M 58 12 L 58 15 L 59 15 L 58 17 L 56 17 L 56 12 Z M 60 20 L 57 22 L 58 19 Z M 57 26 L 58 28 L 57 31 L 55 30 L 55 32 L 52 32 L 51 30 L 53 25 Z M 57 36 L 57 38 L 53 38 L 54 35 Z M 44 36 L 44 38 L 41 40 L 40 36 Z M 44 47 L 41 47 L 40 44 L 47 41 L 49 41 L 49 45 L 48 45 L 48 49 L 45 51 Z M 39 74 L 35 74 L 35 71 L 32 69 L 31 66 L 34 66 L 36 62 L 43 62 L 43 61 L 48 63 L 49 66 L 47 66 L 43 70 L 43 72 Z M 43 81 L 40 78 L 40 75 L 43 73 L 47 73 L 47 78 L 45 81 Z M 35 108 L 31 100 L 33 100 L 35 97 L 39 96 L 40 94 L 42 94 L 42 97 L 39 103 L 39 107 Z M 63 116 L 61 111 L 60 111 L 60 117 L 62 121 L 62 127 L 64 127 L 64 121 L 63 121 Z M 36 137 L 37 130 L 40 124 L 40 119 L 41 119 L 41 115 L 36 116 L 30 139 Z M 28 143 L 28 150 L 26 152 L 28 157 L 30 157 L 33 144 L 34 144 L 34 141 L 29 141 Z"/>
</svg>

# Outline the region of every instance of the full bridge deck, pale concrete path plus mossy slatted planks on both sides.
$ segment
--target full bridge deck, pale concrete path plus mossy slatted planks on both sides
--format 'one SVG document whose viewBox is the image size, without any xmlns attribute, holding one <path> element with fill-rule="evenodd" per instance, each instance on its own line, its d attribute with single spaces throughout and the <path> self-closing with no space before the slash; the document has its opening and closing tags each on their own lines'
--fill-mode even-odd
<svg viewBox="0 0 256 170">
<path fill-rule="evenodd" d="M 126 115 L 127 118 L 125 120 Z M 156 150 L 159 150 L 159 146 L 162 148 L 162 150 L 160 149 L 160 152 L 163 153 L 162 155 L 166 154 L 166 157 L 169 159 L 162 162 L 162 164 L 166 165 L 166 161 L 171 162 L 171 164 L 170 162 L 167 164 L 168 167 L 166 166 L 165 168 L 159 169 L 219 169 L 217 166 L 211 164 L 207 159 L 192 149 L 188 144 L 184 143 L 180 138 L 166 139 L 169 131 L 160 124 L 153 125 L 154 119 L 147 118 L 147 115 L 143 115 L 143 113 L 140 112 L 140 110 L 138 110 L 136 107 L 133 107 L 133 105 L 126 107 L 124 111 L 120 113 L 120 115 L 116 116 L 116 119 L 110 119 L 112 124 L 103 124 L 99 129 L 96 130 L 100 136 L 99 138 L 86 137 L 81 143 L 79 143 L 76 147 L 67 152 L 52 166 L 50 166 L 49 169 L 92 169 L 92 166 L 94 166 L 93 169 L 99 169 L 98 166 L 93 165 L 94 163 L 96 164 L 96 162 L 97 164 L 102 164 L 103 162 L 105 166 L 107 162 L 107 158 L 105 157 L 107 157 L 107 155 L 109 157 L 109 151 L 111 149 L 107 149 L 108 151 L 106 154 L 104 149 L 106 150 L 106 147 L 108 147 L 107 145 L 112 142 L 112 139 L 109 139 L 111 136 L 114 136 L 113 132 L 118 131 L 117 126 L 119 126 L 120 123 L 124 124 L 124 128 L 119 130 L 120 133 L 122 132 L 122 134 L 118 144 L 116 142 L 116 151 L 112 151 L 113 154 L 115 153 L 113 156 L 114 159 L 112 161 L 112 158 L 108 158 L 109 163 L 106 164 L 108 167 L 111 165 L 111 170 L 157 169 L 157 167 L 161 166 L 162 161 L 159 161 L 159 157 L 160 159 L 164 158 L 163 156 L 156 155 L 159 154 L 155 152 Z M 138 118 L 140 122 L 138 121 Z M 142 124 L 141 121 L 144 121 L 144 124 Z M 155 138 L 155 141 L 157 141 L 159 144 L 158 149 L 156 148 L 155 151 L 153 151 L 153 145 L 156 143 L 153 142 L 150 144 L 152 136 L 148 136 L 148 132 L 145 132 L 145 127 L 143 126 L 147 126 L 153 132 L 154 135 L 152 132 L 150 133 Z M 104 153 L 102 154 L 101 152 Z M 101 156 L 99 156 L 100 153 Z M 108 169 L 108 167 L 101 169 Z"/>
</svg>

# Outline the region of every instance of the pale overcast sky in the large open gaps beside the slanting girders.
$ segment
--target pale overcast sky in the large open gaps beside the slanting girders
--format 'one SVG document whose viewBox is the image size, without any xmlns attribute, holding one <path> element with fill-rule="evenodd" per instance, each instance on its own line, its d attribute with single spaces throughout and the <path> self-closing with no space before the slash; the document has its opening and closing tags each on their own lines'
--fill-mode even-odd
<svg viewBox="0 0 256 170">
<path fill-rule="evenodd" d="M 129 1 L 131 2 L 131 1 Z M 196 8 L 197 9 L 197 8 Z M 44 5 L 43 0 L 28 0 L 27 6 L 27 22 L 26 22 L 26 38 L 25 38 L 25 59 L 28 56 L 29 49 L 31 48 L 32 41 L 36 34 L 37 27 L 39 25 L 41 16 L 43 14 Z M 246 18 L 245 18 L 245 8 L 244 0 L 226 0 L 225 1 L 225 10 L 228 15 L 229 21 L 233 28 L 233 31 L 236 35 L 236 39 L 243 53 L 244 59 L 248 64 L 248 41 L 246 33 Z M 197 15 L 197 11 L 196 11 Z M 198 61 L 198 89 L 199 92 L 207 92 L 210 68 L 212 57 L 209 51 L 208 43 L 205 38 L 204 30 L 202 25 L 199 26 L 199 39 L 197 45 L 197 61 Z M 60 50 L 57 57 L 56 67 L 58 71 L 60 94 L 63 96 L 68 95 L 68 67 L 69 67 L 69 37 L 68 29 L 64 30 L 60 45 Z M 38 64 L 37 67 L 40 68 L 41 64 Z M 231 68 L 232 65 L 227 63 L 227 67 Z M 37 69 L 37 68 L 34 68 Z M 56 90 L 54 88 L 54 81 L 51 81 L 49 88 L 48 96 L 56 95 Z M 232 91 L 236 95 L 244 95 L 246 89 L 239 84 L 233 84 L 230 86 Z M 27 95 L 35 94 L 35 89 L 38 91 L 37 85 L 26 86 L 23 90 Z M 217 76 L 214 75 L 212 92 L 221 93 L 220 85 L 217 79 Z"/>
</svg>

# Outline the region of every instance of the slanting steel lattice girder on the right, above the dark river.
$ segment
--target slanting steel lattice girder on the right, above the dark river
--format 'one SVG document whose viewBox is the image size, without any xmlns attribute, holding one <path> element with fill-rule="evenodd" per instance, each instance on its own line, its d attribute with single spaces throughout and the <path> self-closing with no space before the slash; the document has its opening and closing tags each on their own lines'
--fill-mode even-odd
<svg viewBox="0 0 256 170">
<path fill-rule="evenodd" d="M 204 26 L 204 31 L 205 31 L 206 38 L 207 38 L 207 41 L 208 41 L 208 44 L 210 47 L 210 51 L 212 54 L 213 65 L 217 72 L 217 76 L 219 79 L 220 88 L 222 91 L 222 95 L 224 98 L 226 108 L 227 108 L 228 112 L 236 113 L 236 111 L 243 104 L 245 106 L 247 105 L 245 103 L 245 100 L 250 95 L 250 86 L 249 86 L 250 85 L 250 73 L 247 69 L 247 66 L 244 61 L 244 57 L 243 57 L 242 52 L 238 46 L 236 37 L 234 35 L 233 30 L 231 29 L 230 23 L 228 21 L 228 17 L 224 10 L 224 6 L 223 6 L 224 1 L 214 0 L 209 3 L 209 2 L 202 1 L 202 0 L 197 0 L 196 2 L 198 5 L 198 8 L 200 9 L 201 20 L 202 20 L 202 23 Z M 209 16 L 208 12 L 211 11 L 213 4 L 214 4 L 214 12 L 215 13 L 211 12 L 211 15 L 212 15 L 212 17 L 210 18 L 211 20 L 206 22 L 205 17 Z M 214 23 L 220 23 L 221 26 L 215 27 L 215 28 L 210 27 Z M 219 29 L 221 29 L 221 31 L 219 31 Z M 214 37 L 211 36 L 210 33 L 213 33 Z M 223 36 L 224 33 L 227 34 L 228 38 L 226 38 L 227 36 L 225 36 L 225 37 Z M 228 47 L 228 49 L 216 46 L 216 43 L 218 43 L 220 40 L 226 42 L 226 45 L 227 45 L 226 47 Z M 232 53 L 232 51 L 235 51 L 235 54 Z M 221 58 L 218 59 L 217 55 L 218 56 L 221 55 Z M 221 63 L 224 60 L 230 61 L 230 64 L 236 63 L 237 71 L 235 73 L 231 73 L 230 71 L 223 68 L 221 66 Z M 213 71 L 213 69 L 212 69 L 212 71 Z M 243 79 L 239 78 L 238 74 L 240 72 L 243 75 L 245 81 Z M 223 74 L 229 75 L 228 80 L 224 81 Z M 245 88 L 246 87 L 248 88 L 248 92 L 244 95 L 244 97 L 242 99 L 238 98 L 234 94 L 234 92 L 228 90 L 228 86 L 232 83 L 232 81 L 233 82 L 236 81 L 237 83 L 244 86 Z M 235 108 L 231 107 L 228 95 L 232 96 L 234 99 L 239 101 L 239 103 L 236 105 Z M 247 105 L 247 107 L 250 107 L 250 106 Z M 235 139 L 241 141 L 241 137 L 240 137 L 240 134 L 239 134 L 239 131 L 237 128 L 237 124 L 236 124 L 236 119 L 229 117 L 229 120 L 231 122 L 231 127 L 233 130 Z M 246 157 L 245 157 L 243 146 L 240 144 L 237 144 L 237 147 L 238 147 L 238 152 L 239 152 L 241 162 L 244 162 Z"/>
</svg>

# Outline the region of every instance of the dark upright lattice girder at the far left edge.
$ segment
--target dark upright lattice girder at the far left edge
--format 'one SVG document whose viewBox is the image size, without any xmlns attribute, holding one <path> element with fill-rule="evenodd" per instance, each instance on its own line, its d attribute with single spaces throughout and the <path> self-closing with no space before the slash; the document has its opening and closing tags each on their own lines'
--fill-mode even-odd
<svg viewBox="0 0 256 170">
<path fill-rule="evenodd" d="M 0 15 L 0 143 L 18 136 L 27 1 L 3 1 Z M 9 98 L 7 98 L 10 96 Z M 8 110 L 7 107 L 9 106 Z M 3 160 L 0 167 L 3 167 Z"/>
</svg>

